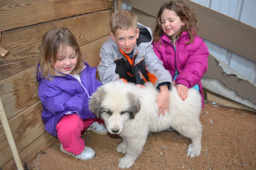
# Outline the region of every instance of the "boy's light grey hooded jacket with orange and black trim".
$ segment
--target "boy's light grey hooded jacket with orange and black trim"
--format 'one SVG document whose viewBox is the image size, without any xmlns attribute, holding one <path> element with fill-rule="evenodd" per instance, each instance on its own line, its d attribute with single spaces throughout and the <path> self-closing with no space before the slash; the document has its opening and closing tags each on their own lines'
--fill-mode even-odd
<svg viewBox="0 0 256 170">
<path fill-rule="evenodd" d="M 133 54 L 136 54 L 135 61 L 132 63 L 132 67 L 134 68 L 133 70 L 131 69 L 133 74 L 138 73 L 137 77 L 140 77 L 140 79 L 144 79 L 143 76 L 148 76 L 149 81 L 154 84 L 155 88 L 159 83 L 163 82 L 168 82 L 168 85 L 170 85 L 172 83 L 172 77 L 163 67 L 163 63 L 157 58 L 152 48 L 151 43 L 153 42 L 153 38 L 151 29 L 140 23 L 137 23 L 137 25 L 140 29 L 140 34 L 137 39 L 137 44 L 133 49 Z M 98 66 L 98 72 L 101 82 L 104 84 L 120 79 L 120 75 L 115 72 L 116 61 L 127 61 L 127 59 L 119 50 L 116 42 L 112 41 L 111 37 L 102 45 L 100 57 L 101 61 Z M 147 73 L 143 73 L 143 69 L 146 70 L 144 72 Z M 139 83 L 137 82 L 137 84 Z"/>
</svg>

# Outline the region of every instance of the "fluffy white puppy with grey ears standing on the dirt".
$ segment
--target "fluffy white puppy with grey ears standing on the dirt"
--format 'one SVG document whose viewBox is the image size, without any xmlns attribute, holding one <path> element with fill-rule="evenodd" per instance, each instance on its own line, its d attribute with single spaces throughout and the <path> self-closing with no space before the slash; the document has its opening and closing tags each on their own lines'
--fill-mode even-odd
<svg viewBox="0 0 256 170">
<path fill-rule="evenodd" d="M 145 89 L 141 89 L 132 83 L 109 82 L 99 87 L 89 101 L 90 110 L 104 120 L 108 132 L 123 138 L 116 150 L 126 154 L 119 160 L 118 166 L 132 166 L 143 151 L 148 133 L 161 132 L 170 126 L 181 135 L 191 138 L 187 156 L 193 158 L 200 155 L 200 93 L 189 89 L 188 98 L 182 101 L 176 88 L 172 87 L 168 112 L 158 116 L 158 92 L 152 83 L 146 83 L 145 86 Z"/>
</svg>

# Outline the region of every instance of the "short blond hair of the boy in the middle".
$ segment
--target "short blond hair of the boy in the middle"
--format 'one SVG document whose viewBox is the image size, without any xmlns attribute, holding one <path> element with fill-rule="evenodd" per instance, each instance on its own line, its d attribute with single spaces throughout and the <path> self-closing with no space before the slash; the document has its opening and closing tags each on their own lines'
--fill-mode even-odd
<svg viewBox="0 0 256 170">
<path fill-rule="evenodd" d="M 115 34 L 117 29 L 129 30 L 134 28 L 137 30 L 138 17 L 132 13 L 130 10 L 120 10 L 112 14 L 110 25 L 111 32 Z"/>
</svg>

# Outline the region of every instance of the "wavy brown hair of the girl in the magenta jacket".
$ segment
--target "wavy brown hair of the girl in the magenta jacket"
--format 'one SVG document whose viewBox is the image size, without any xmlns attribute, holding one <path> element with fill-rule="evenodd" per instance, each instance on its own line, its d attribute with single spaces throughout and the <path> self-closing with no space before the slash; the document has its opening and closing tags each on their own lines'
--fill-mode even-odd
<svg viewBox="0 0 256 170">
<path fill-rule="evenodd" d="M 178 32 L 177 36 L 175 37 L 176 39 L 179 38 L 179 36 L 183 33 L 183 31 L 188 31 L 188 34 L 190 36 L 190 41 L 186 42 L 187 44 L 190 44 L 194 41 L 194 37 L 196 33 L 198 32 L 198 28 L 196 27 L 196 15 L 193 10 L 190 10 L 188 5 L 185 5 L 181 1 L 170 1 L 166 2 L 162 5 L 162 7 L 159 9 L 158 14 L 157 14 L 157 23 L 156 23 L 156 28 L 155 32 L 153 35 L 154 43 L 160 43 L 160 36 L 163 34 L 163 30 L 161 27 L 161 15 L 165 9 L 169 9 L 174 11 L 177 16 L 180 18 L 182 22 L 184 22 L 184 25 L 181 26 L 180 32 Z M 173 41 L 173 37 L 170 37 L 171 40 Z"/>
</svg>

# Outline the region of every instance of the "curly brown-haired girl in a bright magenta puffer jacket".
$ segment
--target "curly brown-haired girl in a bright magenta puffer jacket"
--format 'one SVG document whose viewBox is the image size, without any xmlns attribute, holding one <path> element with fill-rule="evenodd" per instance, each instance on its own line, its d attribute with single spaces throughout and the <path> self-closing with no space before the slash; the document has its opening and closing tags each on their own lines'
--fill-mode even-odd
<svg viewBox="0 0 256 170">
<path fill-rule="evenodd" d="M 208 68 L 209 51 L 196 35 L 195 13 L 180 1 L 166 2 L 157 15 L 153 49 L 163 66 L 173 77 L 182 100 L 188 96 L 188 88 L 195 88 L 202 96 L 201 78 Z"/>
</svg>

